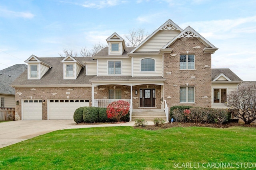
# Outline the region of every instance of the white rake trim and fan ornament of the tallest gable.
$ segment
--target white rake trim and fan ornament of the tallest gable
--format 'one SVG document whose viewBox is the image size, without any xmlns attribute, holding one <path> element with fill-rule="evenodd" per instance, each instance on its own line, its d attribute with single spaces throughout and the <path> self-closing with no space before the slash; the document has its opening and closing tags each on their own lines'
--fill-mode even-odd
<svg viewBox="0 0 256 170">
<path fill-rule="evenodd" d="M 182 29 L 176 23 L 174 23 L 174 21 L 169 19 L 163 25 L 161 25 L 158 29 L 156 29 L 156 31 L 154 31 L 146 39 L 144 39 L 144 41 L 142 41 L 142 43 L 140 43 L 137 47 L 135 47 L 130 53 L 134 53 L 134 51 L 136 51 L 138 48 L 140 48 L 144 43 L 146 43 L 151 37 L 153 37 L 160 30 L 178 30 L 178 31 L 182 31 Z"/>
</svg>

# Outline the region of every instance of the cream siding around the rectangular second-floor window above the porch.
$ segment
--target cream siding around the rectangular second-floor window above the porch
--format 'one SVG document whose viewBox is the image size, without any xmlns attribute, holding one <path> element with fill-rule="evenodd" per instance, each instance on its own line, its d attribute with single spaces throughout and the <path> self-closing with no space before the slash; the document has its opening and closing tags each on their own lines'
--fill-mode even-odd
<svg viewBox="0 0 256 170">
<path fill-rule="evenodd" d="M 98 59 L 98 76 L 107 76 L 108 75 L 108 61 L 121 61 L 121 70 L 122 74 L 118 74 L 119 76 L 131 76 L 131 59 Z M 114 74 L 111 74 L 113 76 Z"/>
</svg>

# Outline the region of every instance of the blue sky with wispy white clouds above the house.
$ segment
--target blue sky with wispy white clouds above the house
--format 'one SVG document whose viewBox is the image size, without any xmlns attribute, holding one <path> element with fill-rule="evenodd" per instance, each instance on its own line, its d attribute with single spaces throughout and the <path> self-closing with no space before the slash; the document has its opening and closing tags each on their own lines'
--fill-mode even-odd
<svg viewBox="0 0 256 170">
<path fill-rule="evenodd" d="M 256 0 L 1 0 L 0 70 L 62 49 L 106 44 L 116 32 L 149 34 L 171 19 L 190 25 L 219 48 L 212 68 L 230 68 L 256 80 Z"/>
</svg>

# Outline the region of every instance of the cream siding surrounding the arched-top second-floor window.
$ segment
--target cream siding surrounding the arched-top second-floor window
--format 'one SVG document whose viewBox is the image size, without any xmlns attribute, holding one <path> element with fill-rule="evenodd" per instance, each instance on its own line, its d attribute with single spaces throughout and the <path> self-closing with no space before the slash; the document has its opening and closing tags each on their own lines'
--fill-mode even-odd
<svg viewBox="0 0 256 170">
<path fill-rule="evenodd" d="M 154 59 L 155 60 L 155 71 L 140 71 L 140 60 L 141 59 Z M 162 63 L 162 56 L 155 55 L 155 56 L 142 56 L 142 57 L 134 57 L 133 58 L 133 76 L 162 76 L 163 74 L 163 63 Z"/>
</svg>

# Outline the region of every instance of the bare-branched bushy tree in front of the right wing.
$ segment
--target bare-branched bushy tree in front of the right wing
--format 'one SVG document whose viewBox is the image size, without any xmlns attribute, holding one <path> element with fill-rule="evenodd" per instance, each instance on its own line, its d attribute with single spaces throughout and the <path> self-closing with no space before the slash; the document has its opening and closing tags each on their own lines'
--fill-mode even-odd
<svg viewBox="0 0 256 170">
<path fill-rule="evenodd" d="M 242 119 L 245 124 L 256 120 L 256 86 L 240 86 L 227 95 L 226 106 L 232 110 L 234 117 Z"/>
</svg>

